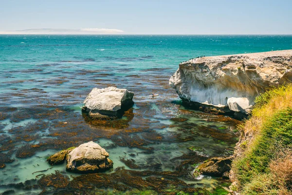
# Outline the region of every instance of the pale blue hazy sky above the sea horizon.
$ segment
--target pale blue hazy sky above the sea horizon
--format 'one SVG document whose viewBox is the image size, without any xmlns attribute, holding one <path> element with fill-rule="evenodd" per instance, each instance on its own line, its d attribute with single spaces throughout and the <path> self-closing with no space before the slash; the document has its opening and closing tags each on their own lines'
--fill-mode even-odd
<svg viewBox="0 0 292 195">
<path fill-rule="evenodd" d="M 292 34 L 292 0 L 0 0 L 0 34 Z"/>
</svg>

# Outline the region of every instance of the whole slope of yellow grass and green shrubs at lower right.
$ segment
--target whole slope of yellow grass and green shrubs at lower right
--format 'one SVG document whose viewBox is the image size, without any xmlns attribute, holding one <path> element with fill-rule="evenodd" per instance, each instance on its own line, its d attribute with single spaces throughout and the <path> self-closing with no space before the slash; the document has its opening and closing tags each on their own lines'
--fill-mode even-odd
<svg viewBox="0 0 292 195">
<path fill-rule="evenodd" d="M 292 193 L 292 85 L 256 98 L 232 164 L 233 191 L 243 195 Z"/>
</svg>

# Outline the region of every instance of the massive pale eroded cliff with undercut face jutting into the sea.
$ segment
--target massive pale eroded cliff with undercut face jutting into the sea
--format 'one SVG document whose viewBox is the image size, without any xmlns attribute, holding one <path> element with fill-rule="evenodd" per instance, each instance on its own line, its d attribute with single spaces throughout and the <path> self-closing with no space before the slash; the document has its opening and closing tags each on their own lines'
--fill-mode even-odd
<svg viewBox="0 0 292 195">
<path fill-rule="evenodd" d="M 191 59 L 169 85 L 189 104 L 248 114 L 256 96 L 285 82 L 292 82 L 292 50 Z"/>
</svg>

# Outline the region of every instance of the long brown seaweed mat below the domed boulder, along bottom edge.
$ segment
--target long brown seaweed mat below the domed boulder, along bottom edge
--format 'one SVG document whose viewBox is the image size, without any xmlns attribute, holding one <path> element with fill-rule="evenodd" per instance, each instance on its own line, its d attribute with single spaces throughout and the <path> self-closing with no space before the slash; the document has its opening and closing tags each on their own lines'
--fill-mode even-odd
<svg viewBox="0 0 292 195">
<path fill-rule="evenodd" d="M 150 175 L 163 175 L 164 177 L 150 176 Z M 148 176 L 143 179 L 141 176 Z M 126 191 L 138 189 L 143 191 L 151 189 L 158 193 L 164 194 L 164 190 L 168 189 L 169 185 L 174 188 L 179 187 L 192 187 L 192 184 L 186 184 L 184 181 L 177 178 L 179 173 L 172 172 L 137 172 L 129 171 L 120 167 L 112 174 L 87 174 L 74 177 L 70 182 L 69 187 L 74 190 L 83 191 L 86 189 L 96 188 L 113 188 L 117 191 Z M 190 190 L 189 190 L 190 191 Z"/>
</svg>

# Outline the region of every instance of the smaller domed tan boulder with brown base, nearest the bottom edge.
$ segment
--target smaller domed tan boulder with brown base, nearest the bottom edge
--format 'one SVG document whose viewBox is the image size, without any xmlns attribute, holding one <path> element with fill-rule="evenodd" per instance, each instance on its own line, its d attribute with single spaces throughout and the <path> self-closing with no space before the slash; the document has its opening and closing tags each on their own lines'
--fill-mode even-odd
<svg viewBox="0 0 292 195">
<path fill-rule="evenodd" d="M 97 143 L 90 141 L 81 144 L 67 155 L 66 169 L 78 173 L 96 173 L 112 168 L 113 162 Z"/>
</svg>

